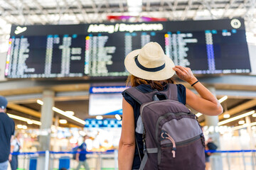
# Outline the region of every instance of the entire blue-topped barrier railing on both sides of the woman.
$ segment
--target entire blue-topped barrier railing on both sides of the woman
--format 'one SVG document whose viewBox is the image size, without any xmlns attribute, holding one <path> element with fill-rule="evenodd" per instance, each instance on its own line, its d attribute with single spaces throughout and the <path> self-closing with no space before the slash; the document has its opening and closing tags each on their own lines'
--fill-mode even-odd
<svg viewBox="0 0 256 170">
<path fill-rule="evenodd" d="M 256 170 L 256 150 L 209 150 L 211 170 L 220 170 L 215 164 L 223 164 L 223 170 Z M 21 170 L 76 169 L 78 162 L 73 154 L 80 152 L 23 152 L 18 153 L 18 168 Z M 87 152 L 87 163 L 93 170 L 117 170 L 117 150 Z"/>
</svg>

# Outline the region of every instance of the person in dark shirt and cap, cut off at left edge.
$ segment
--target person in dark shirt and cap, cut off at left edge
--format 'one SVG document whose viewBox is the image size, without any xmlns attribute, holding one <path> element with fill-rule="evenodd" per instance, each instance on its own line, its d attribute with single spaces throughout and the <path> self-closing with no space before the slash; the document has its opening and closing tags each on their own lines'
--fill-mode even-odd
<svg viewBox="0 0 256 170">
<path fill-rule="evenodd" d="M 7 100 L 0 96 L 0 170 L 8 168 L 11 161 L 11 136 L 14 135 L 14 120 L 6 114 Z"/>
</svg>

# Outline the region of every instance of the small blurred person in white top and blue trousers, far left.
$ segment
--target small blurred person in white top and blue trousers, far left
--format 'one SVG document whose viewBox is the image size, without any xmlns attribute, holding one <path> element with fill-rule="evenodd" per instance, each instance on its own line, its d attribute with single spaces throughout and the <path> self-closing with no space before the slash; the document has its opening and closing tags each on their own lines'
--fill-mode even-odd
<svg viewBox="0 0 256 170">
<path fill-rule="evenodd" d="M 16 133 L 14 140 L 11 141 L 11 170 L 18 169 L 18 152 L 21 149 L 21 133 Z"/>
</svg>

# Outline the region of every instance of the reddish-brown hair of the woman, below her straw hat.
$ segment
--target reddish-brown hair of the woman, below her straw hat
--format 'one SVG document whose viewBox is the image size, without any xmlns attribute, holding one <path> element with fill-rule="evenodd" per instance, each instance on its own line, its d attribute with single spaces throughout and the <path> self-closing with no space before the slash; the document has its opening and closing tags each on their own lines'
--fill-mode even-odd
<svg viewBox="0 0 256 170">
<path fill-rule="evenodd" d="M 127 78 L 127 86 L 139 86 L 141 84 L 148 84 L 151 86 L 152 89 L 157 89 L 159 91 L 164 90 L 164 87 L 167 84 L 174 84 L 175 81 L 174 79 L 166 79 L 166 80 L 161 80 L 161 81 L 154 81 L 154 80 L 146 80 L 146 79 L 141 79 L 139 77 L 135 77 L 134 75 L 130 74 L 129 77 Z"/>
</svg>

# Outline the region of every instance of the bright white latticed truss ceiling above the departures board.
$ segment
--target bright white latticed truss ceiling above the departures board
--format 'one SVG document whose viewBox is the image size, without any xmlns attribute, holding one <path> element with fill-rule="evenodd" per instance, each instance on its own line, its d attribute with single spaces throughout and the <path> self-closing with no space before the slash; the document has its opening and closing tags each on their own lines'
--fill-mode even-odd
<svg viewBox="0 0 256 170">
<path fill-rule="evenodd" d="M 142 16 L 168 21 L 245 18 L 247 28 L 255 29 L 255 0 L 1 0 L 0 5 L 5 35 L 9 33 L 9 24 L 102 23 L 115 21 L 118 17 L 114 16 L 137 16 L 118 18 L 122 21 L 142 21 Z"/>
</svg>

